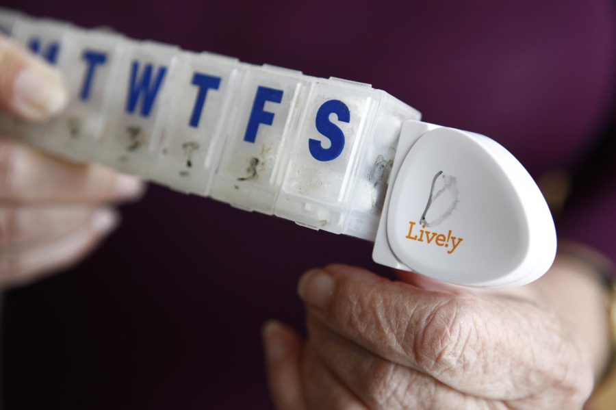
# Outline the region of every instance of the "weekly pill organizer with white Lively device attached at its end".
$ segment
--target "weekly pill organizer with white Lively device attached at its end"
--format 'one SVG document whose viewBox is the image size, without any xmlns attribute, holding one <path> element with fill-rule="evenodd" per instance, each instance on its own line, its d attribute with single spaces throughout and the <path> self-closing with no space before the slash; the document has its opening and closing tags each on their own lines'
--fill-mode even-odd
<svg viewBox="0 0 616 410">
<path fill-rule="evenodd" d="M 70 90 L 49 123 L 0 114 L 3 136 L 371 240 L 379 264 L 441 281 L 523 285 L 554 260 L 546 201 L 506 149 L 423 123 L 370 84 L 11 10 L 0 10 L 0 31 L 56 66 Z"/>
</svg>

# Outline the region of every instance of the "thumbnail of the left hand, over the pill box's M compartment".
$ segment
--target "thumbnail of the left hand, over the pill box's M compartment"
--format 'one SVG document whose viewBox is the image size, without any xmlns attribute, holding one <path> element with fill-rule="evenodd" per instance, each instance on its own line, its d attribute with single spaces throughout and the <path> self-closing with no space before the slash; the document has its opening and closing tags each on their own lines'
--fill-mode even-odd
<svg viewBox="0 0 616 410">
<path fill-rule="evenodd" d="M 12 97 L 12 107 L 18 114 L 29 120 L 46 120 L 62 111 L 67 102 L 62 79 L 51 68 L 33 64 L 18 73 Z"/>
</svg>

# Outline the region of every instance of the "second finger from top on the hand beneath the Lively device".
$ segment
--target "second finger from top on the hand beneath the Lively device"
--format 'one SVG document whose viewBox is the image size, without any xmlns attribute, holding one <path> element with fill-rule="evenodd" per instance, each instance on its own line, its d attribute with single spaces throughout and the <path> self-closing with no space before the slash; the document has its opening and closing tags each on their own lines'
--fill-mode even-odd
<svg viewBox="0 0 616 410">
<path fill-rule="evenodd" d="M 486 400 L 461 394 L 431 376 L 370 353 L 313 315 L 307 326 L 309 343 L 324 366 L 370 409 L 490 408 Z M 493 404 L 498 408 L 497 402 Z"/>
</svg>

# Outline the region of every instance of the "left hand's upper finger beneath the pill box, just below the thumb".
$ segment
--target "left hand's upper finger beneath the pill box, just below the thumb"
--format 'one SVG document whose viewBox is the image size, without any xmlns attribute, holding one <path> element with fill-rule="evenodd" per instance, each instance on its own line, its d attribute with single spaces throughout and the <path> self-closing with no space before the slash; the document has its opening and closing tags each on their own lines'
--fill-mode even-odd
<svg viewBox="0 0 616 410">
<path fill-rule="evenodd" d="M 135 177 L 0 140 L 0 203 L 100 203 L 138 198 L 143 191 Z"/>
</svg>

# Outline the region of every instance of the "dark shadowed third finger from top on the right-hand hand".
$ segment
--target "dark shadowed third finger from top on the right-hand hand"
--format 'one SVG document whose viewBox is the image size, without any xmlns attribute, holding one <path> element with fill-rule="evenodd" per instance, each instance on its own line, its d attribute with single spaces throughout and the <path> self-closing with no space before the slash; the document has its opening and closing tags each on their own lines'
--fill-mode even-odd
<svg viewBox="0 0 616 410">
<path fill-rule="evenodd" d="M 325 366 L 311 344 L 307 344 L 302 367 L 303 386 L 310 410 L 368 410 Z"/>
</svg>

